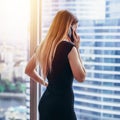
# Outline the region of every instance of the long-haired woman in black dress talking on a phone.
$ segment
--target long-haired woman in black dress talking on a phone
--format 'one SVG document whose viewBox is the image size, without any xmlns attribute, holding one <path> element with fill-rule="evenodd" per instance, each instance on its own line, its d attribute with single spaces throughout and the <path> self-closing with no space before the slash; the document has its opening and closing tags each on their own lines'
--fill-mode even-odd
<svg viewBox="0 0 120 120">
<path fill-rule="evenodd" d="M 72 82 L 73 77 L 83 82 L 86 75 L 78 52 L 77 23 L 77 18 L 69 11 L 59 11 L 26 66 L 27 75 L 47 86 L 39 102 L 40 120 L 77 120 Z M 36 63 L 40 65 L 41 76 L 35 70 Z"/>
</svg>

